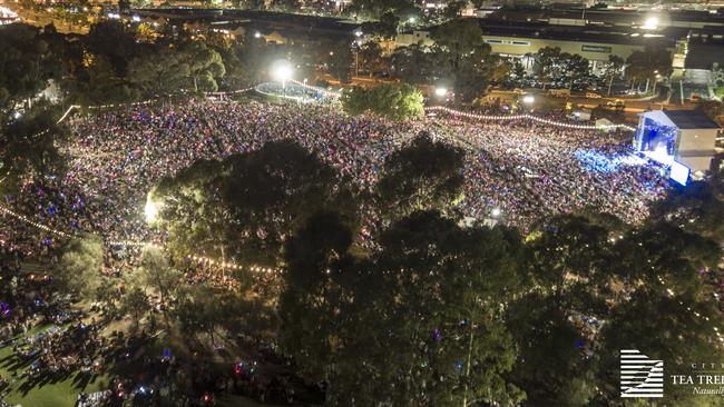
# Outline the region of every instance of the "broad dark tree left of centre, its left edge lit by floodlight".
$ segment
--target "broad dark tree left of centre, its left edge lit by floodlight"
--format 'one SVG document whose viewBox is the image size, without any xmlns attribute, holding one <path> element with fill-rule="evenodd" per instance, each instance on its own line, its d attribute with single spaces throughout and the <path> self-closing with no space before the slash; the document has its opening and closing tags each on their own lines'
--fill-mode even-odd
<svg viewBox="0 0 724 407">
<path fill-rule="evenodd" d="M 350 190 L 314 152 L 284 140 L 224 161 L 197 161 L 154 192 L 179 254 L 276 265 L 288 235 L 316 210 L 353 214 Z M 345 211 L 346 210 L 346 211 Z M 348 216 L 355 224 L 354 216 Z"/>
</svg>

